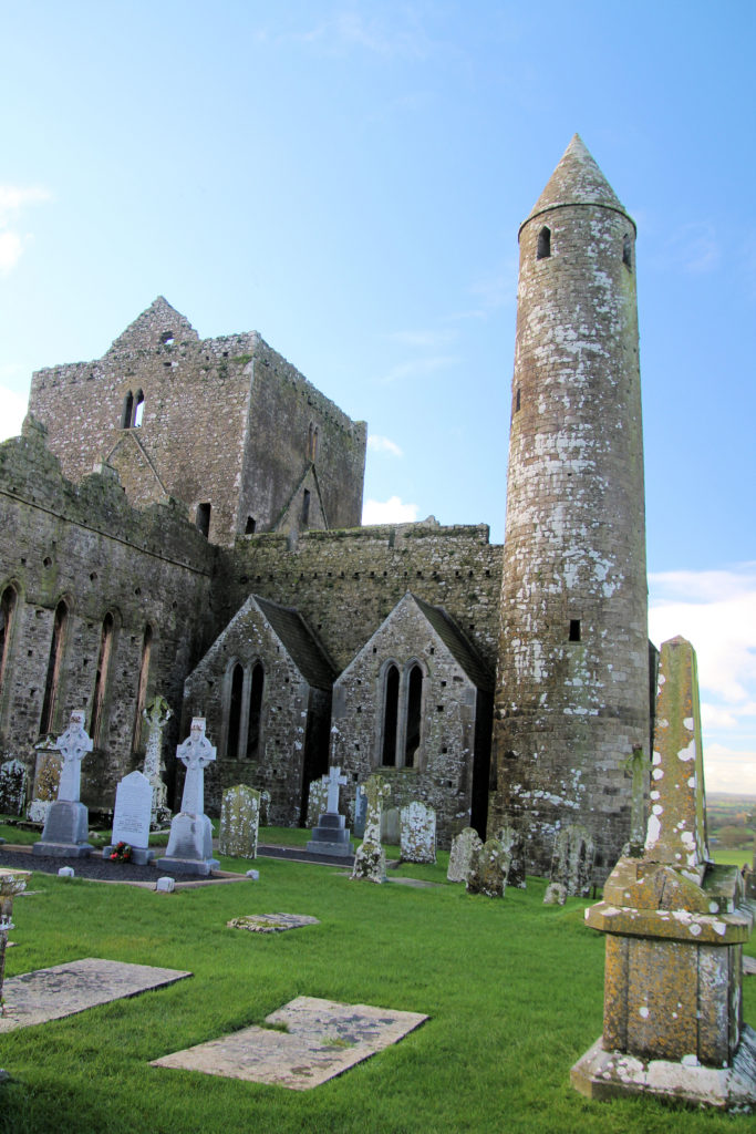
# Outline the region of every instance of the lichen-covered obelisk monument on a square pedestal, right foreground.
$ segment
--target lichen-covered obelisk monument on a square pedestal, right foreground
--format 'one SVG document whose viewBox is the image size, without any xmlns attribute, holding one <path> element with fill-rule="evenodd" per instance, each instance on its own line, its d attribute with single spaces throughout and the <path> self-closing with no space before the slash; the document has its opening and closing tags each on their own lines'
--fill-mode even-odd
<svg viewBox="0 0 756 1134">
<path fill-rule="evenodd" d="M 642 857 L 620 858 L 586 922 L 606 934 L 604 1031 L 572 1067 L 593 1098 L 661 1094 L 756 1106 L 756 1032 L 742 1019 L 754 913 L 737 866 L 708 861 L 696 655 L 662 645 L 652 814 Z"/>
</svg>

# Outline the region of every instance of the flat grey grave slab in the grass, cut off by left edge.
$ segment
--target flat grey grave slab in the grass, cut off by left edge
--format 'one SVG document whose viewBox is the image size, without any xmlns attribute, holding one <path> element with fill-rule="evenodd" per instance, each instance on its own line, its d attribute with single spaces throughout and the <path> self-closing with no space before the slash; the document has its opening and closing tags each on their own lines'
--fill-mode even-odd
<svg viewBox="0 0 756 1134">
<path fill-rule="evenodd" d="M 97 1004 L 138 996 L 192 976 L 179 968 L 129 965 L 120 960 L 84 957 L 52 968 L 8 976 L 2 985 L 0 1032 L 62 1019 Z"/>
</svg>

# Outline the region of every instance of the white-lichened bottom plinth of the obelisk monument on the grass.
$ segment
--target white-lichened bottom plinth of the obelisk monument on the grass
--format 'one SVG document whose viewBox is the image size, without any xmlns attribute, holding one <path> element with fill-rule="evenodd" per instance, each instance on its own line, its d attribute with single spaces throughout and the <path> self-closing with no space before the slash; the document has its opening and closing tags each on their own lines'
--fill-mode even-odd
<svg viewBox="0 0 756 1134">
<path fill-rule="evenodd" d="M 606 1051 L 596 1040 L 570 1072 L 572 1086 L 589 1099 L 657 1094 L 721 1110 L 756 1108 L 756 1032 L 746 1025 L 730 1067 L 706 1067 L 695 1056 L 640 1059 Z"/>
</svg>

